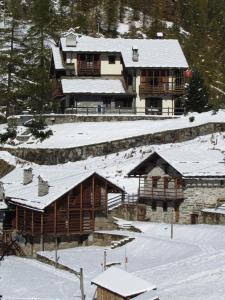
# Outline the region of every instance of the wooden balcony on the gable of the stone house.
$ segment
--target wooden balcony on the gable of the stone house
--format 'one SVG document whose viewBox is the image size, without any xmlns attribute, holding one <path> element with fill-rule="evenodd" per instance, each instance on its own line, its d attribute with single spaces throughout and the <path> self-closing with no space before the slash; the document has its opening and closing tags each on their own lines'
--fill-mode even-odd
<svg viewBox="0 0 225 300">
<path fill-rule="evenodd" d="M 139 198 L 149 200 L 182 200 L 183 186 L 179 179 L 170 177 L 141 178 Z"/>
</svg>

